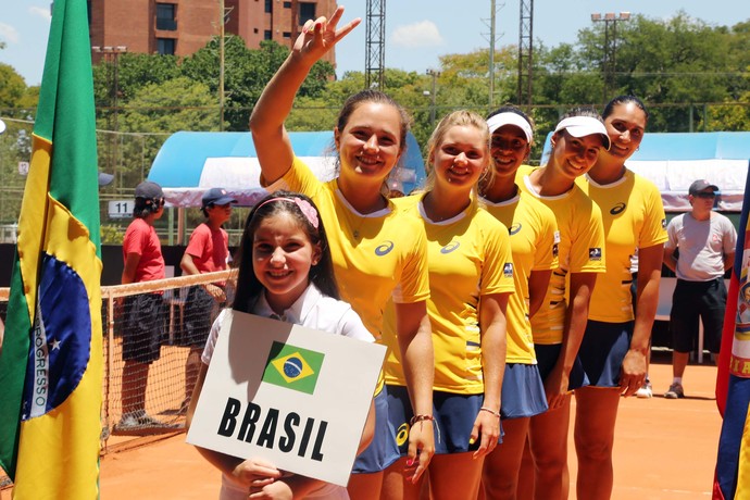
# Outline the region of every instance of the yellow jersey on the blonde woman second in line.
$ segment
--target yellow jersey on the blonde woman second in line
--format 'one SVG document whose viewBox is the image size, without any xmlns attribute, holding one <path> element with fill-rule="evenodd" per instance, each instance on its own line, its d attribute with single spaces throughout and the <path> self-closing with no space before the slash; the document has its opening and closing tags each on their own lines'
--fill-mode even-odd
<svg viewBox="0 0 750 500">
<path fill-rule="evenodd" d="M 430 296 L 427 311 L 435 350 L 434 390 L 474 395 L 484 392 L 482 335 L 478 309 L 482 296 L 512 293 L 513 260 L 508 228 L 485 210 L 471 205 L 453 218 L 430 222 L 422 197 L 393 200 L 409 211 L 427 234 Z M 393 321 L 389 310 L 386 322 Z M 398 339 L 385 328 L 386 383 L 405 385 Z"/>
</svg>

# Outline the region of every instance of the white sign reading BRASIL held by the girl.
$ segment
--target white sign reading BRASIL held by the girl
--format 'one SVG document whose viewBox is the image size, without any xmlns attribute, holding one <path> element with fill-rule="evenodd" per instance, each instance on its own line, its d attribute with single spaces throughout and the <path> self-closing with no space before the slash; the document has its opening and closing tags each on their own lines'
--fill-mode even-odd
<svg viewBox="0 0 750 500">
<path fill-rule="evenodd" d="M 346 486 L 385 346 L 232 313 L 187 441 Z"/>
</svg>

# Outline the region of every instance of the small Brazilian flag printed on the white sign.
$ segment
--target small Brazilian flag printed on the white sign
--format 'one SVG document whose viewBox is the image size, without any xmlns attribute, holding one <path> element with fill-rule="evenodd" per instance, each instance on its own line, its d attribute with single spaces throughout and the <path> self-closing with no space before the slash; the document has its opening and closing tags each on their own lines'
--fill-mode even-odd
<svg viewBox="0 0 750 500">
<path fill-rule="evenodd" d="M 322 352 L 274 341 L 265 363 L 263 382 L 312 395 L 324 358 Z"/>
</svg>

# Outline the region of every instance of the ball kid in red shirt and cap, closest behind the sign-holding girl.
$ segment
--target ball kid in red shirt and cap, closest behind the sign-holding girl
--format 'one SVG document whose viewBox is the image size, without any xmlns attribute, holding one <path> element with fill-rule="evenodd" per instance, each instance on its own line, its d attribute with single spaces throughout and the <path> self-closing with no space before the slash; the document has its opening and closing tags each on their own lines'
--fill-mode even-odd
<svg viewBox="0 0 750 500">
<path fill-rule="evenodd" d="M 237 203 L 226 189 L 211 188 L 201 199 L 205 222 L 192 230 L 179 266 L 183 275 L 213 273 L 229 267 L 229 235 L 222 225 L 232 216 L 232 204 Z M 200 371 L 200 355 L 209 337 L 211 324 L 218 308 L 226 301 L 224 282 L 190 287 L 185 301 L 185 345 L 190 347 L 185 362 L 185 401 L 180 413 L 187 410 L 190 395 Z"/>
</svg>

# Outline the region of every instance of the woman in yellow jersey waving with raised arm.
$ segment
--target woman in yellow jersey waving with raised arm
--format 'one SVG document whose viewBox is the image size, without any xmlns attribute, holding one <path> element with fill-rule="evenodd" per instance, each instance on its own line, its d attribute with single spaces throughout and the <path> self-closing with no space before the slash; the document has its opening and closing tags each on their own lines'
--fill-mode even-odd
<svg viewBox="0 0 750 500">
<path fill-rule="evenodd" d="M 354 20 L 337 28 L 342 13 L 343 9 L 338 8 L 330 20 L 318 17 L 305 23 L 291 53 L 255 104 L 250 129 L 264 184 L 302 192 L 318 207 L 341 299 L 351 303 L 376 339 L 383 334 L 382 311 L 395 295 L 398 348 L 414 409 L 424 418 L 409 436 L 409 457 L 416 463 L 410 477 L 415 480 L 434 452 L 426 239 L 422 224 L 404 216 L 383 189 L 405 147 L 409 118 L 382 92 L 364 91 L 350 97 L 334 129 L 339 175 L 328 183 L 317 180 L 295 158 L 284 127 L 295 95 L 312 65 L 360 23 Z M 383 471 L 399 458 L 382 387 L 375 396 L 375 437 L 358 457 L 349 482 L 353 499 L 378 499 Z"/>
</svg>

